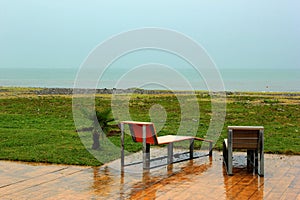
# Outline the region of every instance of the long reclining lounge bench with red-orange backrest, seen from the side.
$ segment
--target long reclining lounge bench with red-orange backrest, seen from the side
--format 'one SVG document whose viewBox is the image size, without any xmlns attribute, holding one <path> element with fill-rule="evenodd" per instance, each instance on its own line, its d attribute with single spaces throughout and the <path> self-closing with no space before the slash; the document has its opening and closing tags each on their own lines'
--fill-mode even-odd
<svg viewBox="0 0 300 200">
<path fill-rule="evenodd" d="M 122 121 L 120 122 L 121 128 L 121 167 L 125 166 L 124 161 L 124 125 L 127 124 L 130 129 L 131 137 L 134 142 L 143 144 L 143 168 L 150 168 L 150 145 L 167 144 L 168 157 L 167 163 L 173 163 L 173 143 L 180 141 L 190 141 L 189 158 L 194 158 L 194 141 L 209 142 L 209 156 L 212 156 L 212 142 L 193 136 L 178 136 L 178 135 L 165 135 L 158 137 L 152 122 L 136 122 L 136 121 Z"/>
</svg>

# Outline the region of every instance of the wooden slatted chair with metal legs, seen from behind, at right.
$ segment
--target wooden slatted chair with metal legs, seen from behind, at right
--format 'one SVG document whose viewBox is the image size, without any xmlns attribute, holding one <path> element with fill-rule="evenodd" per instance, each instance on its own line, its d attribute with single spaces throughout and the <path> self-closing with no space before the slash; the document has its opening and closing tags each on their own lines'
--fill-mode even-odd
<svg viewBox="0 0 300 200">
<path fill-rule="evenodd" d="M 224 139 L 223 142 L 223 160 L 228 175 L 233 175 L 232 153 L 234 149 L 247 150 L 247 167 L 253 167 L 255 173 L 264 176 L 263 126 L 228 126 L 228 139 Z"/>
</svg>

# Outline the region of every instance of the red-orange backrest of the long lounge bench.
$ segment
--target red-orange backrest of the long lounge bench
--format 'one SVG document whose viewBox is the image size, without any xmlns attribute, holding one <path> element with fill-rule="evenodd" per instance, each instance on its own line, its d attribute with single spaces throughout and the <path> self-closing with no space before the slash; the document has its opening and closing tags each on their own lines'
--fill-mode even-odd
<svg viewBox="0 0 300 200">
<path fill-rule="evenodd" d="M 146 126 L 146 143 L 158 144 L 154 124 L 128 123 L 128 126 L 134 142 L 143 142 L 143 126 Z"/>
</svg>

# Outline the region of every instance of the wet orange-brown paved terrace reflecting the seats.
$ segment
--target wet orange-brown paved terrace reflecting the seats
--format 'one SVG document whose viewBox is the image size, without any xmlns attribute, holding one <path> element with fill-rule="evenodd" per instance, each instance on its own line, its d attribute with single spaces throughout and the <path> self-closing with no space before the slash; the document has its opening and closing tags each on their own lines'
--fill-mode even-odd
<svg viewBox="0 0 300 200">
<path fill-rule="evenodd" d="M 0 161 L 0 199 L 300 199 L 300 156 L 265 155 L 264 177 L 247 171 L 245 153 L 234 154 L 233 176 L 227 176 L 220 152 L 148 171 L 136 165 L 122 173 L 119 165 Z"/>
</svg>

